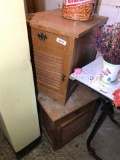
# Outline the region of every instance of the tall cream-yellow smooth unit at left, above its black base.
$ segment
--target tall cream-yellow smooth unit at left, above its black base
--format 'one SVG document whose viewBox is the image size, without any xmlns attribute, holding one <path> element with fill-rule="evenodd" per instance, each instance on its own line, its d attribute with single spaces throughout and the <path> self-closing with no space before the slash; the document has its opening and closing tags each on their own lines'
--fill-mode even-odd
<svg viewBox="0 0 120 160">
<path fill-rule="evenodd" d="M 15 152 L 40 136 L 23 0 L 0 0 L 0 128 Z"/>
</svg>

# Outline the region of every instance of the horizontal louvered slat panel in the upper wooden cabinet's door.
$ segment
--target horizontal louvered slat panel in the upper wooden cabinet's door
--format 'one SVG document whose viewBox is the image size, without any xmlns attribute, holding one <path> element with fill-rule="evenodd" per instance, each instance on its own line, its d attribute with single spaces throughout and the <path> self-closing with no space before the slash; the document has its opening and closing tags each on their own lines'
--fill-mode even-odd
<svg viewBox="0 0 120 160">
<path fill-rule="evenodd" d="M 34 53 L 37 83 L 60 89 L 63 58 L 47 53 Z"/>
</svg>

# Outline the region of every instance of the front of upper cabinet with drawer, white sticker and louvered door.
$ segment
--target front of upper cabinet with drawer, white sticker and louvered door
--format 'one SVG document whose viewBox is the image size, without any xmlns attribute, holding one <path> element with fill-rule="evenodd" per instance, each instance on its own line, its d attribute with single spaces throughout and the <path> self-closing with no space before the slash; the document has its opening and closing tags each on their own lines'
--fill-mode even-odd
<svg viewBox="0 0 120 160">
<path fill-rule="evenodd" d="M 56 99 L 65 99 L 70 66 L 69 38 L 32 28 L 32 42 L 38 90 L 54 94 Z"/>
</svg>

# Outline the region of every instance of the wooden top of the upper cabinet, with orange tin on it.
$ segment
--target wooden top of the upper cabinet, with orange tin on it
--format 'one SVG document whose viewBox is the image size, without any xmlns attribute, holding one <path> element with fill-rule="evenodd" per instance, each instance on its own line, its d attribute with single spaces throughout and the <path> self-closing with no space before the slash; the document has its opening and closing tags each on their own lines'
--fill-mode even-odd
<svg viewBox="0 0 120 160">
<path fill-rule="evenodd" d="M 94 15 L 90 21 L 74 21 L 62 17 L 60 9 L 37 12 L 27 15 L 27 23 L 34 28 L 48 32 L 80 37 L 95 27 L 103 25 L 108 17 Z"/>
</svg>

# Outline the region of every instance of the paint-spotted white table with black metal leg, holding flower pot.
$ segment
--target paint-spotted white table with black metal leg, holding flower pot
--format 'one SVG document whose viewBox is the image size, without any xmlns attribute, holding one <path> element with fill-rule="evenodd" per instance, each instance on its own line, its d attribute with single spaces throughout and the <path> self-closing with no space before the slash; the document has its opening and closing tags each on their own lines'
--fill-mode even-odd
<svg viewBox="0 0 120 160">
<path fill-rule="evenodd" d="M 82 72 L 80 74 L 76 74 L 75 72 L 70 75 L 70 79 L 76 80 L 79 84 L 83 84 L 91 89 L 93 92 L 96 92 L 100 96 L 100 105 L 102 104 L 101 114 L 90 133 L 87 139 L 87 148 L 89 153 L 96 159 L 101 160 L 95 151 L 91 147 L 91 141 L 94 138 L 95 134 L 99 130 L 103 121 L 107 116 L 120 127 L 120 123 L 118 123 L 114 119 L 114 102 L 113 102 L 113 92 L 120 88 L 120 76 L 118 76 L 118 83 L 114 85 L 108 85 L 101 81 L 101 70 L 102 70 L 102 57 L 97 58 L 93 62 L 82 68 Z"/>
</svg>

